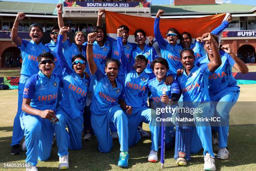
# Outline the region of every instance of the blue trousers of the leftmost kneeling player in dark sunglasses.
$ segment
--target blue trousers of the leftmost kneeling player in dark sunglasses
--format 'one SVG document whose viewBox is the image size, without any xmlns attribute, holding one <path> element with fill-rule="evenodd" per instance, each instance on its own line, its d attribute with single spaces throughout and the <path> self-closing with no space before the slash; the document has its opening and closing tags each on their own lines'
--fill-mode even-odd
<svg viewBox="0 0 256 171">
<path fill-rule="evenodd" d="M 49 119 L 22 112 L 20 126 L 24 131 L 27 158 L 26 163 L 36 166 L 37 159 L 46 161 L 51 155 L 54 127 Z"/>
</svg>

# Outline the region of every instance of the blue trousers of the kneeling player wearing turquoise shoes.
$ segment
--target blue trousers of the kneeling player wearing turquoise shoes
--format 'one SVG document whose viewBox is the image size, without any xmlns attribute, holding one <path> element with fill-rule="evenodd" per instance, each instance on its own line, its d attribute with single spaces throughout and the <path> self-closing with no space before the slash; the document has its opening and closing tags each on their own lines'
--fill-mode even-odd
<svg viewBox="0 0 256 171">
<path fill-rule="evenodd" d="M 91 123 L 100 152 L 108 153 L 113 146 L 109 130 L 111 124 L 117 128 L 120 151 L 128 151 L 128 119 L 120 107 L 113 107 L 103 115 L 92 112 Z"/>
</svg>

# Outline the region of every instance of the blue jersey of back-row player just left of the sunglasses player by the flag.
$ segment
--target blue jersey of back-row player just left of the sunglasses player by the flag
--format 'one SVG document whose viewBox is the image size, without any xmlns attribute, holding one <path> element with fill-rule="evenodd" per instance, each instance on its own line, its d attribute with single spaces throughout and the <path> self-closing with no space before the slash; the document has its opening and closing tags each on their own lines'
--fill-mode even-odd
<svg viewBox="0 0 256 171">
<path fill-rule="evenodd" d="M 137 45 L 136 49 L 133 50 L 132 55 L 133 55 L 133 60 L 131 62 L 132 65 L 134 64 L 136 56 L 144 55 L 148 59 L 148 64 L 147 64 L 147 67 L 145 68 L 145 72 L 153 73 L 153 71 L 151 69 L 151 62 L 153 62 L 154 59 L 158 58 L 158 55 L 153 47 L 145 44 L 144 49 L 141 50 L 141 48 L 138 47 L 138 45 Z"/>
</svg>

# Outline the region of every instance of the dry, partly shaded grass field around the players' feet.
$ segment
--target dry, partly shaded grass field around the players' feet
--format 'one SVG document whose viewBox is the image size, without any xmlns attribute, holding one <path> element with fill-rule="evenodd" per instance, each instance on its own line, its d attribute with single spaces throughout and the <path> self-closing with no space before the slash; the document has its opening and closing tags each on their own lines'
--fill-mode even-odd
<svg viewBox="0 0 256 171">
<path fill-rule="evenodd" d="M 227 160 L 216 159 L 217 170 L 224 171 L 241 171 L 256 170 L 256 127 L 255 127 L 255 108 L 256 103 L 256 85 L 241 85 L 241 93 L 238 101 L 244 101 L 242 104 L 248 104 L 241 111 L 234 109 L 230 117 L 241 115 L 240 118 L 248 118 L 253 126 L 230 126 L 228 148 L 230 157 Z M 247 103 L 251 101 L 250 103 Z M 10 155 L 10 143 L 13 129 L 13 119 L 17 109 L 17 90 L 0 91 L 0 170 L 3 163 L 21 163 L 26 158 L 25 152 L 20 155 Z M 232 121 L 239 121 L 239 118 L 232 118 Z M 145 130 L 149 130 L 147 124 L 143 124 Z M 55 140 L 54 140 L 55 141 Z M 55 141 L 56 143 L 56 141 Z M 92 141 L 82 141 L 83 148 L 79 151 L 69 151 L 69 170 L 123 170 L 117 166 L 119 157 L 119 142 L 113 140 L 113 149 L 110 153 L 100 153 L 97 149 L 97 140 L 95 137 Z M 160 153 L 158 163 L 149 163 L 147 156 L 150 151 L 151 140 L 144 138 L 136 146 L 129 149 L 129 167 L 125 170 L 161 170 Z M 187 166 L 176 166 L 174 149 L 166 151 L 166 160 L 164 170 L 203 170 L 204 162 L 202 150 L 197 154 L 192 154 L 192 160 Z M 53 146 L 51 157 L 48 161 L 38 162 L 38 170 L 56 170 L 59 163 L 57 155 L 57 146 Z M 15 168 L 16 169 L 16 168 Z M 9 170 L 14 170 L 9 168 Z M 24 170 L 17 169 L 17 170 Z"/>
</svg>

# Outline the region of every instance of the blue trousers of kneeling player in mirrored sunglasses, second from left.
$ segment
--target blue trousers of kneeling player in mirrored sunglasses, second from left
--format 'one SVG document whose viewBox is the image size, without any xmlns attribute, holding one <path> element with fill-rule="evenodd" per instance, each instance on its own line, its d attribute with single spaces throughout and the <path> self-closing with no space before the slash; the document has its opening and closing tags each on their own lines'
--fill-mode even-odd
<svg viewBox="0 0 256 171">
<path fill-rule="evenodd" d="M 77 118 L 71 118 L 62 109 L 56 112 L 59 122 L 54 124 L 55 137 L 58 146 L 58 156 L 62 157 L 69 154 L 68 148 L 71 150 L 79 150 L 82 148 L 82 130 L 83 130 L 83 115 Z M 66 130 L 66 125 L 69 132 Z"/>
</svg>

